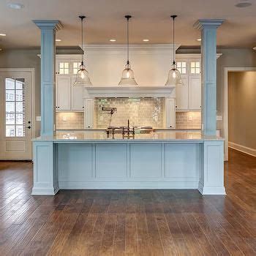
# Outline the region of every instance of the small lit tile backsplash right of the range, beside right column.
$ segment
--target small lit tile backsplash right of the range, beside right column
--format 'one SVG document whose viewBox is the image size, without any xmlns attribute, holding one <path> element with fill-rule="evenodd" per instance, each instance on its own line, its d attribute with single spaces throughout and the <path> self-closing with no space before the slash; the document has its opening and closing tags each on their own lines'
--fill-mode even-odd
<svg viewBox="0 0 256 256">
<path fill-rule="evenodd" d="M 201 113 L 176 112 L 176 129 L 201 129 Z"/>
</svg>

